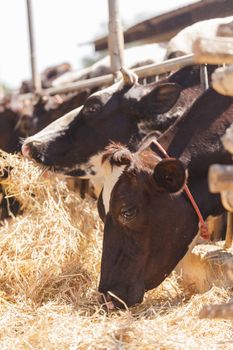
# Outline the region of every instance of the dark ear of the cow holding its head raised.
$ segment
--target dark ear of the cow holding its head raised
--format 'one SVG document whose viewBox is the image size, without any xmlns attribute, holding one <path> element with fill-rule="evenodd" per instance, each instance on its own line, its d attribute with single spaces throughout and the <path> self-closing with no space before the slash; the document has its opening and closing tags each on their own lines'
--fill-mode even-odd
<svg viewBox="0 0 233 350">
<path fill-rule="evenodd" d="M 168 112 L 177 102 L 180 92 L 180 85 L 175 83 L 164 83 L 156 86 L 140 101 L 140 104 L 144 106 L 145 116 Z"/>
</svg>

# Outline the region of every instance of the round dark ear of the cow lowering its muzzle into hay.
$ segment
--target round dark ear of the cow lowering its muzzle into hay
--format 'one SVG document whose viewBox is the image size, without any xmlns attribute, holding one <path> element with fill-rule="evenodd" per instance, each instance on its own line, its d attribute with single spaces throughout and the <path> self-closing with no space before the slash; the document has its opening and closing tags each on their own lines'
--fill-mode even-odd
<svg viewBox="0 0 233 350">
<path fill-rule="evenodd" d="M 156 184 L 170 193 L 182 190 L 186 181 L 186 171 L 182 162 L 175 158 L 159 162 L 153 173 Z"/>
</svg>

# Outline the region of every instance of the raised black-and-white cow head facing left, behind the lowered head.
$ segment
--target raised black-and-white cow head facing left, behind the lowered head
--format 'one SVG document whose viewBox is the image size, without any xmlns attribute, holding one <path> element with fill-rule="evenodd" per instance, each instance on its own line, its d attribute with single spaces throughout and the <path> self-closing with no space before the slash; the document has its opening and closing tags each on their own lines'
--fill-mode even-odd
<svg viewBox="0 0 233 350">
<path fill-rule="evenodd" d="M 96 176 L 101 153 L 110 141 L 138 143 L 138 123 L 167 112 L 177 101 L 174 83 L 143 86 L 134 74 L 89 96 L 84 105 L 29 137 L 25 156 L 68 175 Z"/>
</svg>

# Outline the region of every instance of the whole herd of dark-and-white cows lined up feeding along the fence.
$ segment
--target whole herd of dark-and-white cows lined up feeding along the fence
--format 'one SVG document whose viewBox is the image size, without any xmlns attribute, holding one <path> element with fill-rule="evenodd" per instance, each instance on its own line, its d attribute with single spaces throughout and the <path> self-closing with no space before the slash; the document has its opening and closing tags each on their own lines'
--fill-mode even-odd
<svg viewBox="0 0 233 350">
<path fill-rule="evenodd" d="M 216 36 L 219 24 L 231 22 L 213 19 L 184 29 L 164 57 L 192 52 L 198 36 Z M 209 76 L 215 68 L 208 67 Z M 141 302 L 186 254 L 199 229 L 186 183 L 204 219 L 224 213 L 220 196 L 209 191 L 208 170 L 232 163 L 221 137 L 233 123 L 233 98 L 212 87 L 203 91 L 199 67 L 146 85 L 131 70 L 122 68 L 121 75 L 98 91 L 40 97 L 28 115 L 7 108 L 0 114 L 0 148 L 19 151 L 26 137 L 25 157 L 91 181 L 104 222 L 99 291 L 109 308 Z M 65 73 L 54 85 L 81 76 Z"/>
</svg>

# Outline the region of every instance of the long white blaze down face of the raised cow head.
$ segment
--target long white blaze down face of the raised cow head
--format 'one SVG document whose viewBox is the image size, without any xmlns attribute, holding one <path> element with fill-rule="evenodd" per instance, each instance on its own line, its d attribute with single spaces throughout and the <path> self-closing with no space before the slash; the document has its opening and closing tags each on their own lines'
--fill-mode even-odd
<svg viewBox="0 0 233 350">
<path fill-rule="evenodd" d="M 25 144 L 29 142 L 50 142 L 52 141 L 62 130 L 65 130 L 67 126 L 74 120 L 77 114 L 80 112 L 83 106 L 73 109 L 71 112 L 65 114 L 63 117 L 55 120 L 49 124 L 46 128 L 39 131 L 37 134 L 28 137 L 25 140 Z"/>
</svg>

